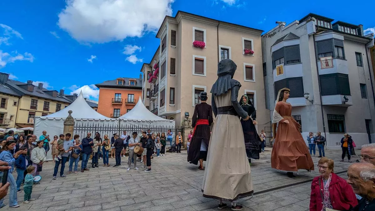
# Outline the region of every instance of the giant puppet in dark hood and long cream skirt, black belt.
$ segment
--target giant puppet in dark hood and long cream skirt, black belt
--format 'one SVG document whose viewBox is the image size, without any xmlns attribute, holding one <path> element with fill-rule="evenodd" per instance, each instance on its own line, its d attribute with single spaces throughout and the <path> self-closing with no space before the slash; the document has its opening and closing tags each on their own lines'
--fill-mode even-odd
<svg viewBox="0 0 375 211">
<path fill-rule="evenodd" d="M 241 87 L 233 79 L 237 65 L 223 59 L 217 66 L 218 78 L 211 89 L 216 120 L 208 146 L 202 192 L 204 197 L 218 199 L 219 209 L 226 207 L 223 201 L 228 201 L 232 202 L 233 210 L 240 210 L 242 206 L 236 205 L 236 201 L 254 192 L 240 123 L 240 117 L 248 120 L 249 116 L 237 101 Z"/>
</svg>

